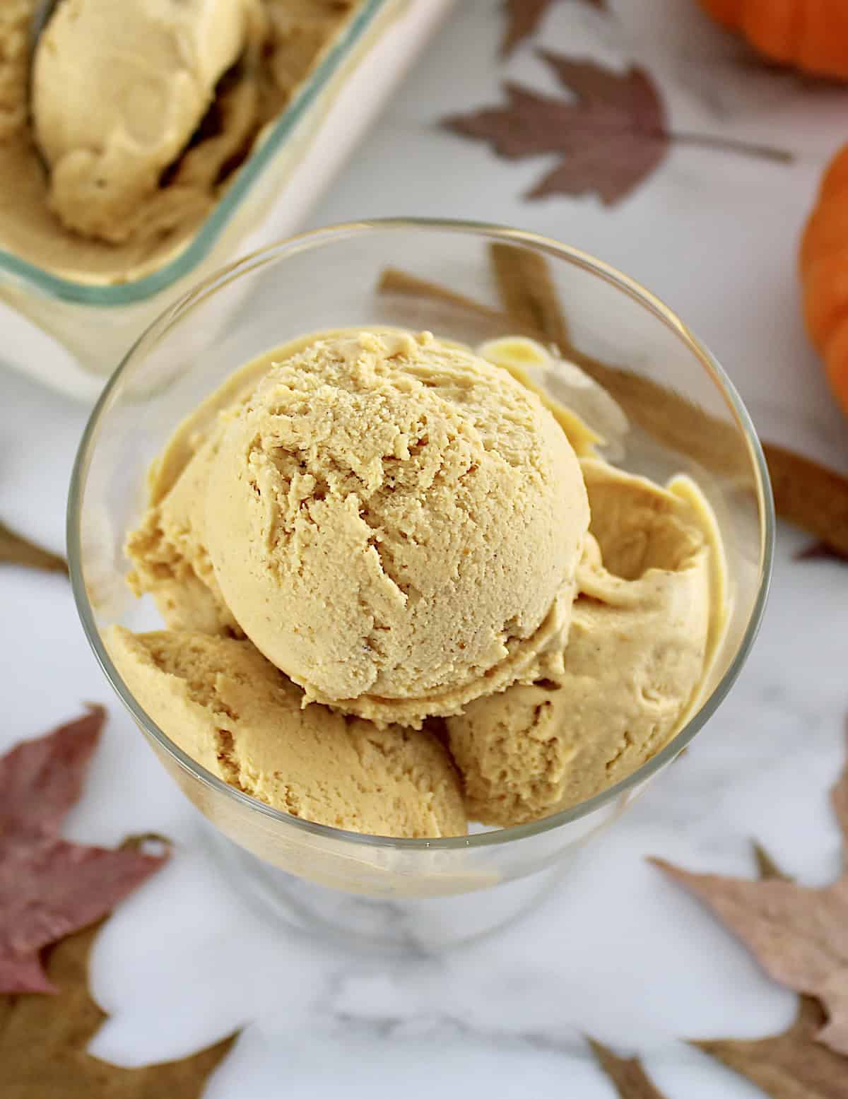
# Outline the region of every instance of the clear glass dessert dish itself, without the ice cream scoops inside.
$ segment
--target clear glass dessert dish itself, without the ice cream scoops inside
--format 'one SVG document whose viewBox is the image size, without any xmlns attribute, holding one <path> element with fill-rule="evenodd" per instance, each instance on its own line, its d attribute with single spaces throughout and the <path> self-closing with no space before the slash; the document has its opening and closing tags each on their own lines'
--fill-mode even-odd
<svg viewBox="0 0 848 1099">
<path fill-rule="evenodd" d="M 564 357 L 593 375 L 624 412 L 602 423 L 593 422 L 591 400 L 579 410 L 605 436 L 601 453 L 662 484 L 688 474 L 721 531 L 726 626 L 682 728 L 623 780 L 531 823 L 387 839 L 274 809 L 181 751 L 129 690 L 104 643 L 114 623 L 160 628 L 149 596 L 136 600 L 127 589 L 123 546 L 144 509 L 145 473 L 178 423 L 275 346 L 309 332 L 381 325 L 471 345 L 516 334 L 558 338 Z M 534 380 L 568 403 L 566 370 Z M 601 419 L 609 412 L 603 401 L 595 408 Z M 165 768 L 213 825 L 207 834 L 234 885 L 275 918 L 346 943 L 436 948 L 484 934 L 535 903 L 714 714 L 759 628 L 773 524 L 747 412 L 715 359 L 650 293 L 533 234 L 389 220 L 320 230 L 254 253 L 155 321 L 110 378 L 80 444 L 68 555 L 98 660 Z"/>
</svg>

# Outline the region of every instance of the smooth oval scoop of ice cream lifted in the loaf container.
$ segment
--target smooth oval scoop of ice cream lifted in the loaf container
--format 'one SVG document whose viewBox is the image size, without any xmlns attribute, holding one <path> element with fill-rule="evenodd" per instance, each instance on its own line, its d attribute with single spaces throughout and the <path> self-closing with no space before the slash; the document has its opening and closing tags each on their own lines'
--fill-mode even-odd
<svg viewBox="0 0 848 1099">
<path fill-rule="evenodd" d="M 64 0 L 33 57 L 32 115 L 51 204 L 120 243 L 245 44 L 254 0 Z"/>
</svg>

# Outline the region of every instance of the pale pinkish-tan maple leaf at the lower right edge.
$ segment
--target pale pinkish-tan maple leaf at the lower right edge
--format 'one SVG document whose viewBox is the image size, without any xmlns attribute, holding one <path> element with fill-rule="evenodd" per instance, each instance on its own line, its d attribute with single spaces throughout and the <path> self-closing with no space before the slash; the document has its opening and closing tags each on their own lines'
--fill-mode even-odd
<svg viewBox="0 0 848 1099">
<path fill-rule="evenodd" d="M 832 803 L 848 854 L 848 766 Z M 848 1054 L 848 866 L 834 885 L 808 889 L 774 877 L 748 881 L 651 862 L 704 901 L 774 980 L 816 997 L 827 1012 L 817 1040 Z"/>
</svg>

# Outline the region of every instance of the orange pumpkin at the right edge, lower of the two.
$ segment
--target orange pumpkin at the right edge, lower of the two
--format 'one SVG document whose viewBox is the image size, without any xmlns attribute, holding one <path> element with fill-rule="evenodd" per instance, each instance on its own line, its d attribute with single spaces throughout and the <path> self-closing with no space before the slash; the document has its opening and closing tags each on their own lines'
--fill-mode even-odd
<svg viewBox="0 0 848 1099">
<path fill-rule="evenodd" d="M 848 145 L 830 162 L 801 242 L 804 320 L 848 413 Z"/>
</svg>

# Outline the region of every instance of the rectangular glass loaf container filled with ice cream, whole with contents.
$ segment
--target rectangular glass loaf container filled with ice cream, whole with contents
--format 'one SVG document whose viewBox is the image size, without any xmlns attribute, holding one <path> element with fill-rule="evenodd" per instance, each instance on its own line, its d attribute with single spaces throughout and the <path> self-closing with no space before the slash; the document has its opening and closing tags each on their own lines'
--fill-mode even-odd
<svg viewBox="0 0 848 1099">
<path fill-rule="evenodd" d="M 2 360 L 89 399 L 297 227 L 453 0 L 59 0 L 33 47 L 38 2 L 0 5 Z"/>
</svg>

